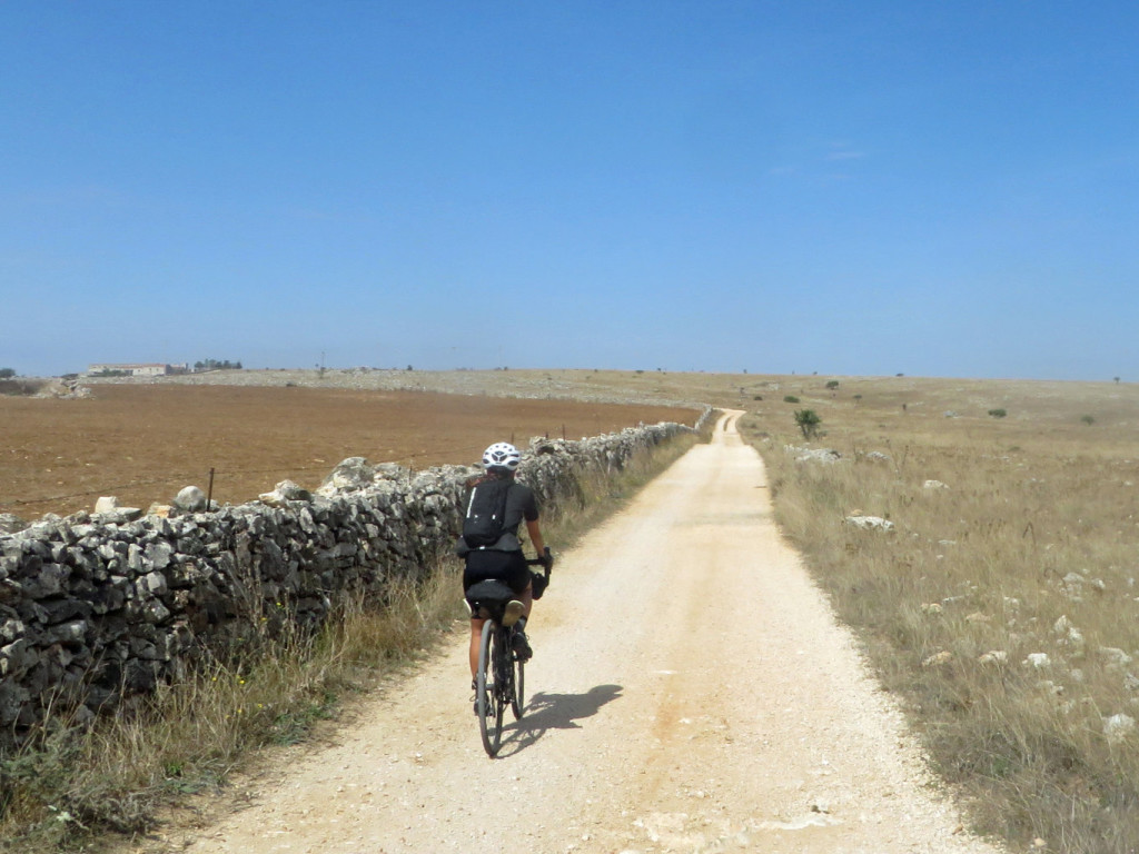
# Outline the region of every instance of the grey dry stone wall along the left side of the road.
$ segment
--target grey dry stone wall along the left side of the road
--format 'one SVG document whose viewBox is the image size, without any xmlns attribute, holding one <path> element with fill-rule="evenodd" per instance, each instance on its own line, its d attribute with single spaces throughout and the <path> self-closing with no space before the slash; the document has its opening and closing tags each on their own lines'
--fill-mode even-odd
<svg viewBox="0 0 1139 854">
<path fill-rule="evenodd" d="M 620 471 L 688 432 L 535 440 L 518 477 L 556 511 L 580 501 L 588 473 Z M 476 471 L 352 458 L 314 494 L 284 482 L 213 512 L 44 517 L 0 535 L 0 753 L 49 708 L 90 721 L 239 655 L 251 637 L 318 626 L 341 597 L 423 577 L 453 548 Z"/>
</svg>

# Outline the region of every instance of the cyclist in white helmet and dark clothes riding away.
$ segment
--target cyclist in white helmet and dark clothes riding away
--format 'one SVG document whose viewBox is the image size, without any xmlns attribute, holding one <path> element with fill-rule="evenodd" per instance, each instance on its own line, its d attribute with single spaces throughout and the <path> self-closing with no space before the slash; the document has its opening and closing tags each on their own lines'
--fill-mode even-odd
<svg viewBox="0 0 1139 854">
<path fill-rule="evenodd" d="M 460 539 L 458 552 L 465 557 L 467 565 L 462 572 L 462 590 L 466 591 L 472 584 L 489 578 L 495 578 L 506 583 L 517 596 L 522 603 L 522 616 L 515 624 L 517 631 L 514 635 L 514 649 L 521 660 L 527 660 L 533 650 L 530 647 L 530 639 L 526 638 L 526 621 L 530 618 L 530 610 L 534 603 L 532 574 L 526 566 L 526 558 L 522 552 L 522 543 L 518 541 L 518 525 L 525 520 L 526 532 L 530 534 L 530 542 L 538 550 L 539 557 L 546 555 L 546 543 L 542 540 L 542 529 L 538 524 L 538 501 L 534 499 L 534 491 L 525 484 L 514 479 L 518 463 L 522 462 L 522 454 L 518 449 L 507 442 L 497 442 L 483 453 L 483 467 L 485 474 L 472 479 L 467 486 L 474 487 L 481 483 L 486 483 L 492 478 L 508 479 L 510 482 L 506 496 L 506 512 L 502 523 L 502 535 L 493 545 L 470 549 Z M 517 606 L 514 606 L 517 608 Z M 470 676 L 475 678 L 478 670 L 478 646 L 482 639 L 483 622 L 472 613 L 470 617 Z"/>
</svg>

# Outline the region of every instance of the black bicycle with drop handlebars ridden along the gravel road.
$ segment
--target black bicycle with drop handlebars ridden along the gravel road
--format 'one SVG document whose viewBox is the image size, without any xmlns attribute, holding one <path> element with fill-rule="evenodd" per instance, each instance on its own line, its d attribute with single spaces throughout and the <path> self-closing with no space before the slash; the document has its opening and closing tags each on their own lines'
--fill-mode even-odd
<svg viewBox="0 0 1139 854">
<path fill-rule="evenodd" d="M 540 584 L 544 591 L 554 566 L 549 548 L 544 558 L 527 560 L 526 565 L 544 567 L 544 575 L 534 575 L 534 598 L 540 598 L 536 588 Z M 485 621 L 475 675 L 475 712 L 483 747 L 486 755 L 493 758 L 502 744 L 506 707 L 510 707 L 514 720 L 521 721 L 526 705 L 526 663 L 514 650 L 514 635 L 522 609 L 508 607 L 511 601 L 517 602 L 517 598 L 501 581 L 481 581 L 466 592 L 474 616 Z"/>
</svg>

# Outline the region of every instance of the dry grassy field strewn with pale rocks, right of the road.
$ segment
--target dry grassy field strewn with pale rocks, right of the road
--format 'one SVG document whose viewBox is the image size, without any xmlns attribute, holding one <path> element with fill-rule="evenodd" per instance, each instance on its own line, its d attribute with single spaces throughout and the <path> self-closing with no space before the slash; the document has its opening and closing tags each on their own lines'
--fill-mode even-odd
<svg viewBox="0 0 1139 854">
<path fill-rule="evenodd" d="M 813 442 L 802 410 L 753 404 L 740 425 L 778 522 L 975 829 L 1015 851 L 1134 852 L 1139 388 L 793 389 Z M 892 527 L 846 522 L 868 516 Z"/>
</svg>

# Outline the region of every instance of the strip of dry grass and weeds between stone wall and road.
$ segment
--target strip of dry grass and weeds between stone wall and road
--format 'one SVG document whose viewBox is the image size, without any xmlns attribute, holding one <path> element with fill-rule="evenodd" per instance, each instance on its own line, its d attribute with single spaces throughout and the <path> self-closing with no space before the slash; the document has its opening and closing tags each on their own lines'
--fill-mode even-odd
<svg viewBox="0 0 1139 854">
<path fill-rule="evenodd" d="M 612 478 L 583 478 L 580 503 L 543 515 L 555 555 L 697 441 L 677 438 Z M 0 852 L 120 849 L 267 750 L 338 725 L 362 696 L 466 629 L 459 569 L 445 559 L 419 585 L 393 584 L 384 602 L 342 603 L 319 635 L 267 637 L 246 663 L 215 663 L 93 729 L 49 721 L 34 744 L 0 761 Z"/>
</svg>

